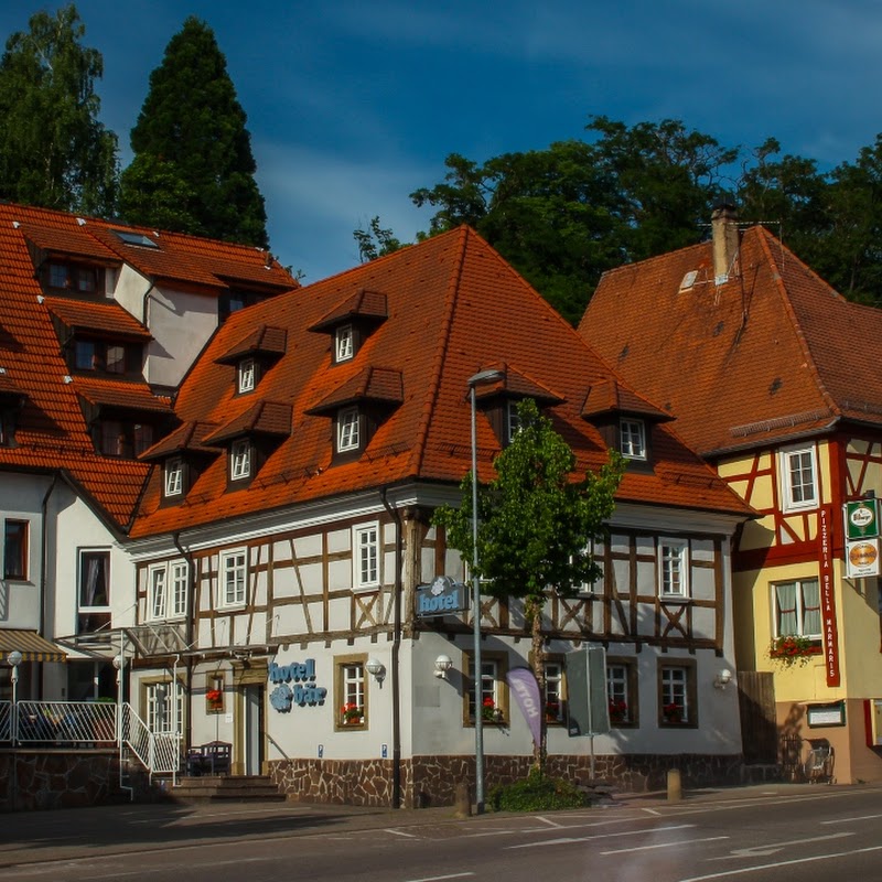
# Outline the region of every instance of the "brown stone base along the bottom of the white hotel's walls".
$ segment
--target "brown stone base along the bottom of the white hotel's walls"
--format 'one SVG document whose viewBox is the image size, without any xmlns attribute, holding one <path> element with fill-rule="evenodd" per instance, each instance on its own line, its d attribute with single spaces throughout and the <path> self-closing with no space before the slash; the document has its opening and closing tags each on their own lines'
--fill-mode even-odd
<svg viewBox="0 0 882 882">
<path fill-rule="evenodd" d="M 526 777 L 531 756 L 484 757 L 485 790 Z M 392 805 L 389 760 L 279 760 L 267 773 L 290 798 L 309 803 L 358 806 Z M 701 754 L 633 754 L 594 757 L 594 777 L 626 793 L 665 789 L 667 773 L 680 771 L 684 787 L 739 784 L 744 777 L 741 756 Z M 573 783 L 591 779 L 591 757 L 549 756 L 548 774 Z M 416 756 L 401 763 L 401 805 L 406 808 L 451 806 L 456 784 L 469 782 L 474 794 L 473 756 Z"/>
</svg>

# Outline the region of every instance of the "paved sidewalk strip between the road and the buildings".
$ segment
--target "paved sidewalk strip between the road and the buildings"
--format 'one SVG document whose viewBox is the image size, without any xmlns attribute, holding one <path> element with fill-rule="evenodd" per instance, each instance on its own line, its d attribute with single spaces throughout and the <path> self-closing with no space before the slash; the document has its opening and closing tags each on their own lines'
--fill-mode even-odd
<svg viewBox="0 0 882 882">
<path fill-rule="evenodd" d="M 837 785 L 832 785 L 835 788 Z M 873 785 L 863 785 L 872 787 Z M 876 785 L 878 786 L 878 785 Z M 580 811 L 616 811 L 687 807 L 690 804 L 729 803 L 793 796 L 826 789 L 807 784 L 764 784 L 746 787 L 687 790 L 680 803 L 669 803 L 665 792 L 616 794 L 612 805 Z M 546 814 L 546 813 L 542 813 Z M 236 841 L 277 836 L 356 833 L 364 830 L 415 826 L 460 825 L 467 829 L 487 821 L 510 820 L 512 815 L 485 814 L 456 818 L 451 806 L 423 809 L 363 808 L 304 803 L 233 803 L 181 805 L 125 804 L 95 808 L 0 815 L 0 868 L 53 860 L 75 860 L 140 849 L 174 848 L 193 842 Z"/>
</svg>

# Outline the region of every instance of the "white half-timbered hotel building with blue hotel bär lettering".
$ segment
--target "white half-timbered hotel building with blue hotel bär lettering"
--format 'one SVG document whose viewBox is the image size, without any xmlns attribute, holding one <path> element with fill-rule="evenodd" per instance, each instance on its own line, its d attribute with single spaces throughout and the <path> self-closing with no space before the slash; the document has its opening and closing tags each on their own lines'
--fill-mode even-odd
<svg viewBox="0 0 882 882">
<path fill-rule="evenodd" d="M 137 563 L 131 699 L 185 743 L 233 744 L 234 773 L 289 794 L 443 804 L 526 771 L 528 727 L 505 674 L 528 662 L 517 602 L 420 615 L 420 587 L 467 576 L 432 525 L 459 504 L 534 398 L 580 470 L 628 469 L 603 578 L 550 596 L 542 631 L 550 767 L 625 786 L 734 781 L 731 541 L 752 510 L 473 230 L 410 246 L 232 315 L 174 401 L 127 547 Z M 665 402 L 662 395 L 658 400 Z M 570 738 L 568 653 L 606 648 L 612 730 Z M 474 677 L 482 707 L 475 708 Z"/>
</svg>

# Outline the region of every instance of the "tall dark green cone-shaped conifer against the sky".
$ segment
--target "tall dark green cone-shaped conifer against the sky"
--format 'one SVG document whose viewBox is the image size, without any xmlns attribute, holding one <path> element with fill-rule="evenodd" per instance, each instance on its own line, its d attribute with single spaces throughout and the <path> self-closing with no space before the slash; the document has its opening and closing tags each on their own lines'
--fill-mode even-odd
<svg viewBox="0 0 882 882">
<path fill-rule="evenodd" d="M 246 115 L 214 32 L 191 17 L 150 75 L 120 208 L 132 223 L 266 247 Z"/>
</svg>

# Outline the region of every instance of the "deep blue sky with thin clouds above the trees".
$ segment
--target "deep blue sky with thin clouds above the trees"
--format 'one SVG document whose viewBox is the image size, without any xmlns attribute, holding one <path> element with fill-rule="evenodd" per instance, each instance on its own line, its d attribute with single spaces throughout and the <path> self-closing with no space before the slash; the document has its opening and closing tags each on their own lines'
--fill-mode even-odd
<svg viewBox="0 0 882 882">
<path fill-rule="evenodd" d="M 0 36 L 39 9 L 6 0 Z M 777 138 L 821 168 L 882 131 L 878 0 L 79 0 L 101 52 L 101 119 L 121 161 L 150 72 L 189 14 L 226 55 L 248 115 L 271 249 L 316 281 L 358 261 L 379 215 L 411 240 L 451 152 L 483 161 L 585 137 L 603 114 L 664 118 L 724 146 Z"/>
</svg>

